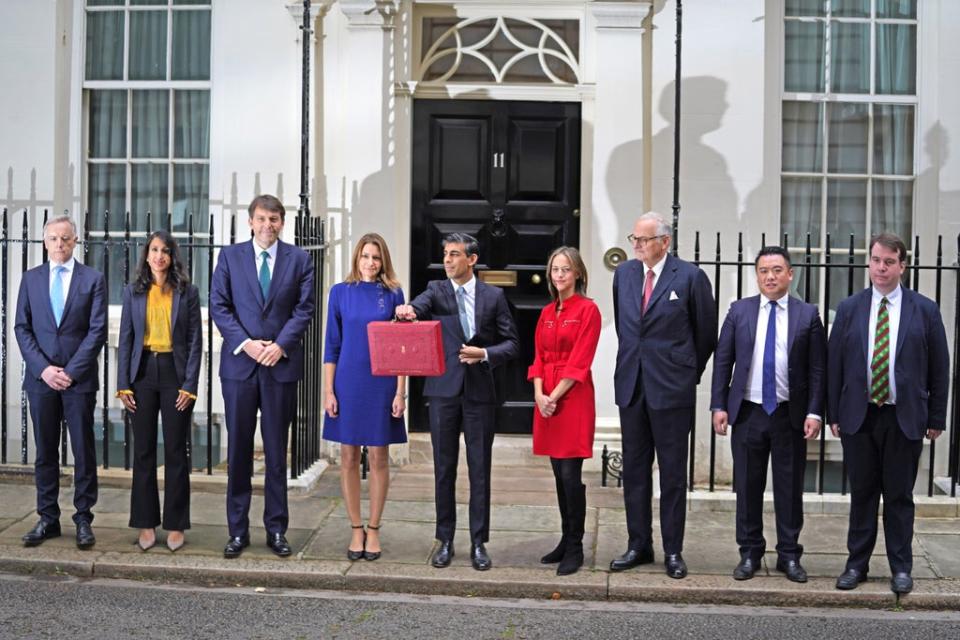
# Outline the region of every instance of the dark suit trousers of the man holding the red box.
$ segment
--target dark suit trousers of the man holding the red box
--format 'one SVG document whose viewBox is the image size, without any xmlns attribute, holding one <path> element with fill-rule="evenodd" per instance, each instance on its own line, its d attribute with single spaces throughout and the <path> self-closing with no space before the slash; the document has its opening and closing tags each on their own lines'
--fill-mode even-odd
<svg viewBox="0 0 960 640">
<path fill-rule="evenodd" d="M 430 441 L 437 506 L 437 540 L 453 540 L 457 528 L 457 462 L 460 431 L 467 445 L 470 479 L 470 541 L 490 538 L 490 462 L 496 406 L 456 398 L 430 397 Z"/>
</svg>

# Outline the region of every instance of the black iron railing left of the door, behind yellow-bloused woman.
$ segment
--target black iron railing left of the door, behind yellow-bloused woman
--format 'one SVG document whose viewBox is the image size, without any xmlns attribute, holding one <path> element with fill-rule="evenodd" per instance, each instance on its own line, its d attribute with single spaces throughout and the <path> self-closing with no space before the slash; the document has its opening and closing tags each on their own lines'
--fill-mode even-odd
<svg viewBox="0 0 960 640">
<path fill-rule="evenodd" d="M 42 221 L 30 219 L 29 213 L 24 210 L 20 220 L 20 234 L 14 237 L 10 233 L 12 218 L 4 208 L 2 218 L 0 218 L 0 463 L 8 462 L 7 442 L 10 435 L 10 417 L 7 408 L 7 384 L 10 380 L 9 362 L 7 349 L 9 348 L 8 321 L 9 310 L 14 306 L 16 296 L 15 287 L 10 283 L 10 260 L 14 253 L 12 249 L 19 247 L 20 251 L 20 269 L 26 271 L 31 266 L 41 264 L 46 260 L 46 249 L 43 248 L 43 240 L 40 238 L 43 224 L 46 223 L 48 212 L 43 212 Z M 289 216 L 292 217 L 292 216 Z M 80 238 L 81 251 L 84 263 L 90 263 L 92 258 L 99 258 L 97 265 L 103 271 L 106 278 L 107 291 L 111 290 L 111 282 L 126 283 L 130 281 L 132 271 L 136 268 L 136 261 L 139 259 L 140 251 L 146 241 L 150 230 L 154 229 L 150 214 L 146 216 L 146 230 L 134 230 L 131 228 L 130 214 L 125 216 L 111 215 L 104 213 L 103 232 L 92 232 L 93 228 L 90 214 L 86 214 L 82 220 L 82 232 Z M 165 216 L 164 227 L 167 230 L 173 228 L 173 218 L 170 214 Z M 116 226 L 113 223 L 122 221 L 122 231 L 115 231 Z M 78 225 L 80 220 L 77 220 Z M 207 222 L 204 220 L 204 222 Z M 216 262 L 216 252 L 225 244 L 217 244 L 214 239 L 214 229 L 216 228 L 217 217 L 209 217 L 209 225 L 204 232 L 196 233 L 195 218 L 188 215 L 186 232 L 175 234 L 178 236 L 178 244 L 181 253 L 186 262 L 187 272 L 190 274 L 202 274 L 205 277 L 207 286 L 202 291 L 202 300 L 209 309 L 210 292 L 209 283 L 213 280 L 213 269 Z M 317 301 L 316 311 L 314 312 L 313 322 L 307 329 L 304 337 L 304 346 L 308 354 L 320 353 L 322 343 L 322 292 L 324 290 L 324 254 L 326 251 L 325 232 L 323 222 L 319 218 L 309 216 L 296 216 L 294 222 L 294 242 L 304 249 L 312 258 L 315 268 L 314 296 Z M 228 244 L 233 244 L 237 240 L 237 218 L 230 216 L 230 233 Z M 39 254 L 31 251 L 32 246 L 41 248 Z M 111 262 L 111 257 L 116 258 L 117 252 L 121 254 L 120 264 Z M 39 260 L 31 261 L 31 254 L 37 254 Z M 99 255 L 98 255 L 99 254 Z M 112 254 L 112 255 L 111 255 Z M 205 264 L 201 265 L 198 256 L 202 256 Z M 203 267 L 201 270 L 200 267 Z M 195 267 L 197 267 L 195 269 Z M 14 293 L 11 294 L 11 288 Z M 205 405 L 194 409 L 194 425 L 187 438 L 187 453 L 191 467 L 194 469 L 205 470 L 207 474 L 213 473 L 213 468 L 219 462 L 220 454 L 220 436 L 219 425 L 222 423 L 222 416 L 215 414 L 213 410 L 214 393 L 219 394 L 218 384 L 214 384 L 215 373 L 213 369 L 213 320 L 209 313 L 205 321 L 204 333 L 206 343 L 206 360 L 201 371 L 200 385 L 204 390 Z M 109 339 L 108 339 L 109 341 Z M 120 456 L 124 469 L 130 468 L 130 422 L 126 411 L 121 409 L 119 403 L 113 402 L 113 387 L 110 384 L 111 367 L 115 366 L 110 361 L 110 346 L 103 350 L 101 356 L 101 365 L 103 368 L 103 380 L 100 390 L 99 412 L 101 420 L 101 429 L 98 433 L 100 437 L 100 457 L 104 469 L 111 466 L 118 466 L 118 462 L 112 460 L 111 447 L 117 448 L 120 443 Z M 310 465 L 320 458 L 320 422 L 322 418 L 322 405 L 319 400 L 319 389 L 321 389 L 321 364 L 319 357 L 308 357 L 305 359 L 304 376 L 297 389 L 296 415 L 291 427 L 290 437 L 290 476 L 298 477 Z M 18 374 L 22 381 L 23 369 Z M 28 412 L 26 394 L 21 391 L 20 394 L 20 456 L 19 462 L 27 464 L 29 462 L 29 438 L 28 438 Z M 122 436 L 115 432 L 114 427 L 122 427 Z M 204 441 L 203 448 L 205 456 L 202 461 L 195 460 L 196 448 L 195 437 L 199 436 Z M 116 438 L 115 438 L 116 437 Z M 116 453 L 116 451 L 114 451 Z M 67 463 L 67 429 L 63 425 L 61 435 L 61 461 Z"/>
</svg>

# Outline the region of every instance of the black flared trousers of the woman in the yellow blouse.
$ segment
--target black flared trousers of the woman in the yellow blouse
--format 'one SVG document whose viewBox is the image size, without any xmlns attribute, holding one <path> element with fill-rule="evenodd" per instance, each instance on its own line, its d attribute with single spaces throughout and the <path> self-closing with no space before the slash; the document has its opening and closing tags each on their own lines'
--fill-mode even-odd
<svg viewBox="0 0 960 640">
<path fill-rule="evenodd" d="M 187 434 L 193 405 L 177 411 L 180 394 L 172 353 L 144 351 L 133 382 L 137 410 L 133 413 L 133 487 L 130 526 L 168 531 L 190 528 L 190 467 Z M 163 424 L 163 520 L 157 490 L 157 418 Z"/>
</svg>

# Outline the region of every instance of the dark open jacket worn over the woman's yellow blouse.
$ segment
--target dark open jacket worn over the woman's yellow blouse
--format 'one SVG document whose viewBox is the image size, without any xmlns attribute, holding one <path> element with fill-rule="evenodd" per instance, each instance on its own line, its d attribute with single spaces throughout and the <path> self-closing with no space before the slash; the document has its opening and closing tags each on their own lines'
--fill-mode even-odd
<svg viewBox="0 0 960 640">
<path fill-rule="evenodd" d="M 117 389 L 120 391 L 132 389 L 131 385 L 137 379 L 146 326 L 147 294 L 135 293 L 133 285 L 128 284 L 123 289 L 120 341 L 117 349 Z M 174 290 L 170 327 L 173 331 L 173 364 L 177 370 L 177 385 L 180 389 L 197 395 L 203 340 L 200 292 L 196 286 L 188 285 L 183 294 Z"/>
</svg>

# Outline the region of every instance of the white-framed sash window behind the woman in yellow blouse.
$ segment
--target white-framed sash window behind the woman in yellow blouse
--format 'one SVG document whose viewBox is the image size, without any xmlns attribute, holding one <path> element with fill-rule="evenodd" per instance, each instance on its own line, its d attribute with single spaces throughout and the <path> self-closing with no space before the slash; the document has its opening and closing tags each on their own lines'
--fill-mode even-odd
<svg viewBox="0 0 960 640">
<path fill-rule="evenodd" d="M 112 237 L 127 212 L 134 232 L 166 228 L 169 213 L 181 246 L 191 214 L 194 232 L 208 232 L 210 28 L 210 0 L 86 0 L 84 184 L 92 235 L 103 235 L 106 211 Z M 205 250 L 193 258 L 191 275 L 206 289 Z M 124 283 L 113 274 L 123 259 L 122 247 L 111 249 L 111 303 L 120 301 Z M 139 248 L 131 269 L 137 259 Z M 102 268 L 101 245 L 91 248 L 90 262 Z"/>
</svg>

